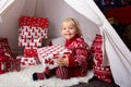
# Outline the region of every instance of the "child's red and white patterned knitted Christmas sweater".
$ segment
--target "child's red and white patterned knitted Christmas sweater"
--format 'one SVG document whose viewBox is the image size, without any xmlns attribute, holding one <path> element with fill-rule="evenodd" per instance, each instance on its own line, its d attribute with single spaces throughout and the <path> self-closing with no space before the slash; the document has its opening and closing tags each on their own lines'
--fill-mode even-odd
<svg viewBox="0 0 131 87">
<path fill-rule="evenodd" d="M 66 47 L 72 51 L 69 57 L 69 73 L 72 76 L 85 76 L 87 73 L 88 45 L 80 36 L 74 36 L 70 40 L 66 40 Z"/>
</svg>

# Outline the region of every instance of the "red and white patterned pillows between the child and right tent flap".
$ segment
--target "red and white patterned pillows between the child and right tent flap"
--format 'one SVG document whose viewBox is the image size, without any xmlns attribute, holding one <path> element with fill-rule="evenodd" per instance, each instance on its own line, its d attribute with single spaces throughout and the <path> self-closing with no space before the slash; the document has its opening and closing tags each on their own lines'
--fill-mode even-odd
<svg viewBox="0 0 131 87">
<path fill-rule="evenodd" d="M 94 60 L 94 75 L 104 82 L 111 83 L 112 75 L 109 65 L 103 65 L 103 36 L 96 35 L 92 46 L 91 53 Z"/>
</svg>

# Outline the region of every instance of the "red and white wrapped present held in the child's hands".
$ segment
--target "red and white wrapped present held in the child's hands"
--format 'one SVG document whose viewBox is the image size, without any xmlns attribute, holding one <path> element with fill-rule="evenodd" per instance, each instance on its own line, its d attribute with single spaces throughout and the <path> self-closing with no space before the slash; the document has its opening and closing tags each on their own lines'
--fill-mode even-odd
<svg viewBox="0 0 131 87">
<path fill-rule="evenodd" d="M 50 70 L 58 66 L 57 64 L 58 57 L 63 57 L 64 54 L 71 54 L 71 50 L 60 45 L 53 45 L 53 46 L 38 48 L 37 53 L 38 53 L 38 59 L 44 65 L 45 70 Z"/>
</svg>

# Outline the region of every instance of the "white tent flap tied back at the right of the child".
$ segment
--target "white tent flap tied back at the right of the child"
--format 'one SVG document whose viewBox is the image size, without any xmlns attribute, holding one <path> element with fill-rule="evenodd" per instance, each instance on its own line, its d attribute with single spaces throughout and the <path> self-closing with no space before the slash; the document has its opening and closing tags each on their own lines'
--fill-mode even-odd
<svg viewBox="0 0 131 87">
<path fill-rule="evenodd" d="M 93 0 L 64 0 L 74 10 L 94 22 L 104 37 L 104 50 L 107 53 L 116 84 L 120 87 L 131 86 L 131 52 L 122 42 L 104 14 Z"/>
</svg>

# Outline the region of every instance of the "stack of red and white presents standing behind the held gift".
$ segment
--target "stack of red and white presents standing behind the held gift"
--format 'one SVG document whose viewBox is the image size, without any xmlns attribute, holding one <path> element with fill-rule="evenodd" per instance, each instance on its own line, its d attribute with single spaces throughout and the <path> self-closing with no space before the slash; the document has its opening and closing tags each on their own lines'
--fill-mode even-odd
<svg viewBox="0 0 131 87">
<path fill-rule="evenodd" d="M 19 46 L 24 47 L 24 50 L 16 59 L 21 59 L 21 65 L 37 64 L 37 49 L 41 47 L 44 38 L 47 38 L 47 30 L 48 18 L 46 17 L 20 17 Z"/>
</svg>

